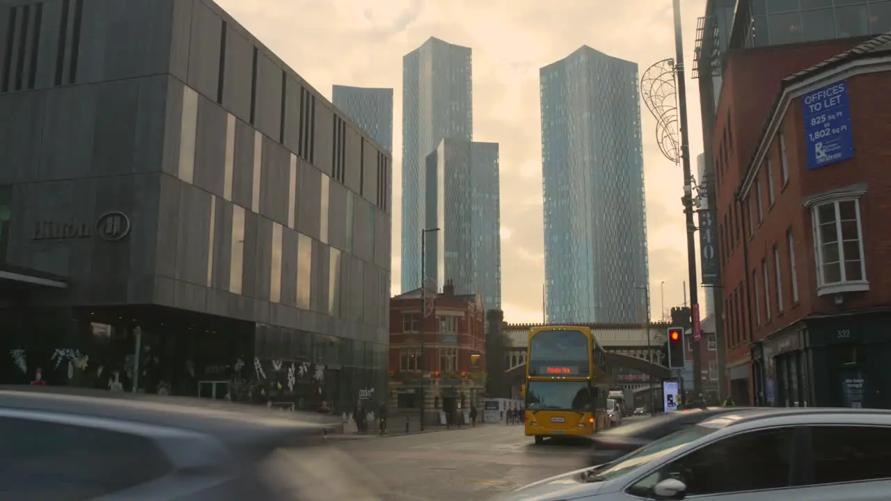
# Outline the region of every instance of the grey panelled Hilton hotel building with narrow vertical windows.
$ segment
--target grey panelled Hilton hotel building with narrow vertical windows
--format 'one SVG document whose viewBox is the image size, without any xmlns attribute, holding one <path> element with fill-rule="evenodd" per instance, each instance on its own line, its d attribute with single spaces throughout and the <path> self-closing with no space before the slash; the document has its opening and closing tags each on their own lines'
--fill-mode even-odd
<svg viewBox="0 0 891 501">
<path fill-rule="evenodd" d="M 4 0 L 0 27 L 4 382 L 386 385 L 387 152 L 209 0 Z"/>
</svg>

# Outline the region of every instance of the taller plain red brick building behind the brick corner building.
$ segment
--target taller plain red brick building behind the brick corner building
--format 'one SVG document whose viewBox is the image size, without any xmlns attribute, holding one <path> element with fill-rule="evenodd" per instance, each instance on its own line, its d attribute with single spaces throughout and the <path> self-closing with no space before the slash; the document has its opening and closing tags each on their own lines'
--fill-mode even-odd
<svg viewBox="0 0 891 501">
<path fill-rule="evenodd" d="M 721 283 L 716 300 L 723 323 L 725 376 L 736 403 L 752 400 L 746 259 L 742 211 L 735 193 L 771 108 L 782 78 L 851 49 L 864 38 L 798 45 L 774 45 L 726 54 L 723 83 L 715 106 L 715 123 L 707 151 L 712 152 Z"/>
</svg>

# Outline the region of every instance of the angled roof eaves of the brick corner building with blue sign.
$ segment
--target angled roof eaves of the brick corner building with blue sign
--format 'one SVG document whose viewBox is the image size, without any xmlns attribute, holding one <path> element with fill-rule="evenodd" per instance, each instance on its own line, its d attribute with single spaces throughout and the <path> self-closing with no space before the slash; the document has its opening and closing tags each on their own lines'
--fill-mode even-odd
<svg viewBox="0 0 891 501">
<path fill-rule="evenodd" d="M 761 129 L 756 149 L 749 158 L 746 175 L 742 177 L 740 185 L 733 192 L 734 198 L 741 201 L 748 194 L 752 181 L 760 170 L 764 156 L 769 150 L 776 129 L 780 126 L 780 121 L 789 107 L 789 102 L 793 97 L 790 94 L 795 90 L 793 87 L 805 84 L 807 80 L 817 76 L 829 76 L 836 72 L 841 72 L 851 62 L 886 58 L 889 54 L 891 54 L 891 31 L 872 37 L 853 49 L 839 53 L 823 62 L 814 64 L 810 68 L 792 73 L 789 77 L 783 78 L 780 81 L 780 90 L 774 96 L 767 118 L 764 119 L 764 126 Z"/>
</svg>

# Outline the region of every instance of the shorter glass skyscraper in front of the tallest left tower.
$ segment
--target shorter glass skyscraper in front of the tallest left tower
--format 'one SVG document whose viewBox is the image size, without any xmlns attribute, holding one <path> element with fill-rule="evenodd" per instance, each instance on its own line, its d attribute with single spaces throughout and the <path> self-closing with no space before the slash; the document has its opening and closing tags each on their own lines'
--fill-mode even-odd
<svg viewBox="0 0 891 501">
<path fill-rule="evenodd" d="M 443 139 L 426 160 L 427 276 L 501 308 L 498 144 Z"/>
</svg>

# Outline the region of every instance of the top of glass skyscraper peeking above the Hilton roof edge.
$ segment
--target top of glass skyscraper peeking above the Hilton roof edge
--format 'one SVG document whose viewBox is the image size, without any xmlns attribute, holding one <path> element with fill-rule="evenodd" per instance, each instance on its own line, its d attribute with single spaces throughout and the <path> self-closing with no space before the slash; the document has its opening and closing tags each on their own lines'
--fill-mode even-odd
<svg viewBox="0 0 891 501">
<path fill-rule="evenodd" d="M 393 89 L 333 86 L 331 103 L 385 150 L 393 152 Z"/>
</svg>

